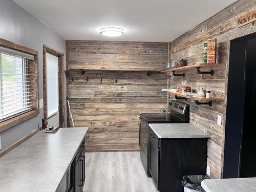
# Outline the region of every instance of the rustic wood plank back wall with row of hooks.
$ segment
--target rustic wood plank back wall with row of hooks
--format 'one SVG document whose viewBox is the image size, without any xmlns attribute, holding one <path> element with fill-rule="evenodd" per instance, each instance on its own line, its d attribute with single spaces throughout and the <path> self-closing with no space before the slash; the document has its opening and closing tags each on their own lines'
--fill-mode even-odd
<svg viewBox="0 0 256 192">
<path fill-rule="evenodd" d="M 67 41 L 68 96 L 75 126 L 89 127 L 88 152 L 139 150 L 139 113 L 166 106 L 166 74 L 146 71 L 163 69 L 167 50 L 155 42 Z"/>
</svg>

